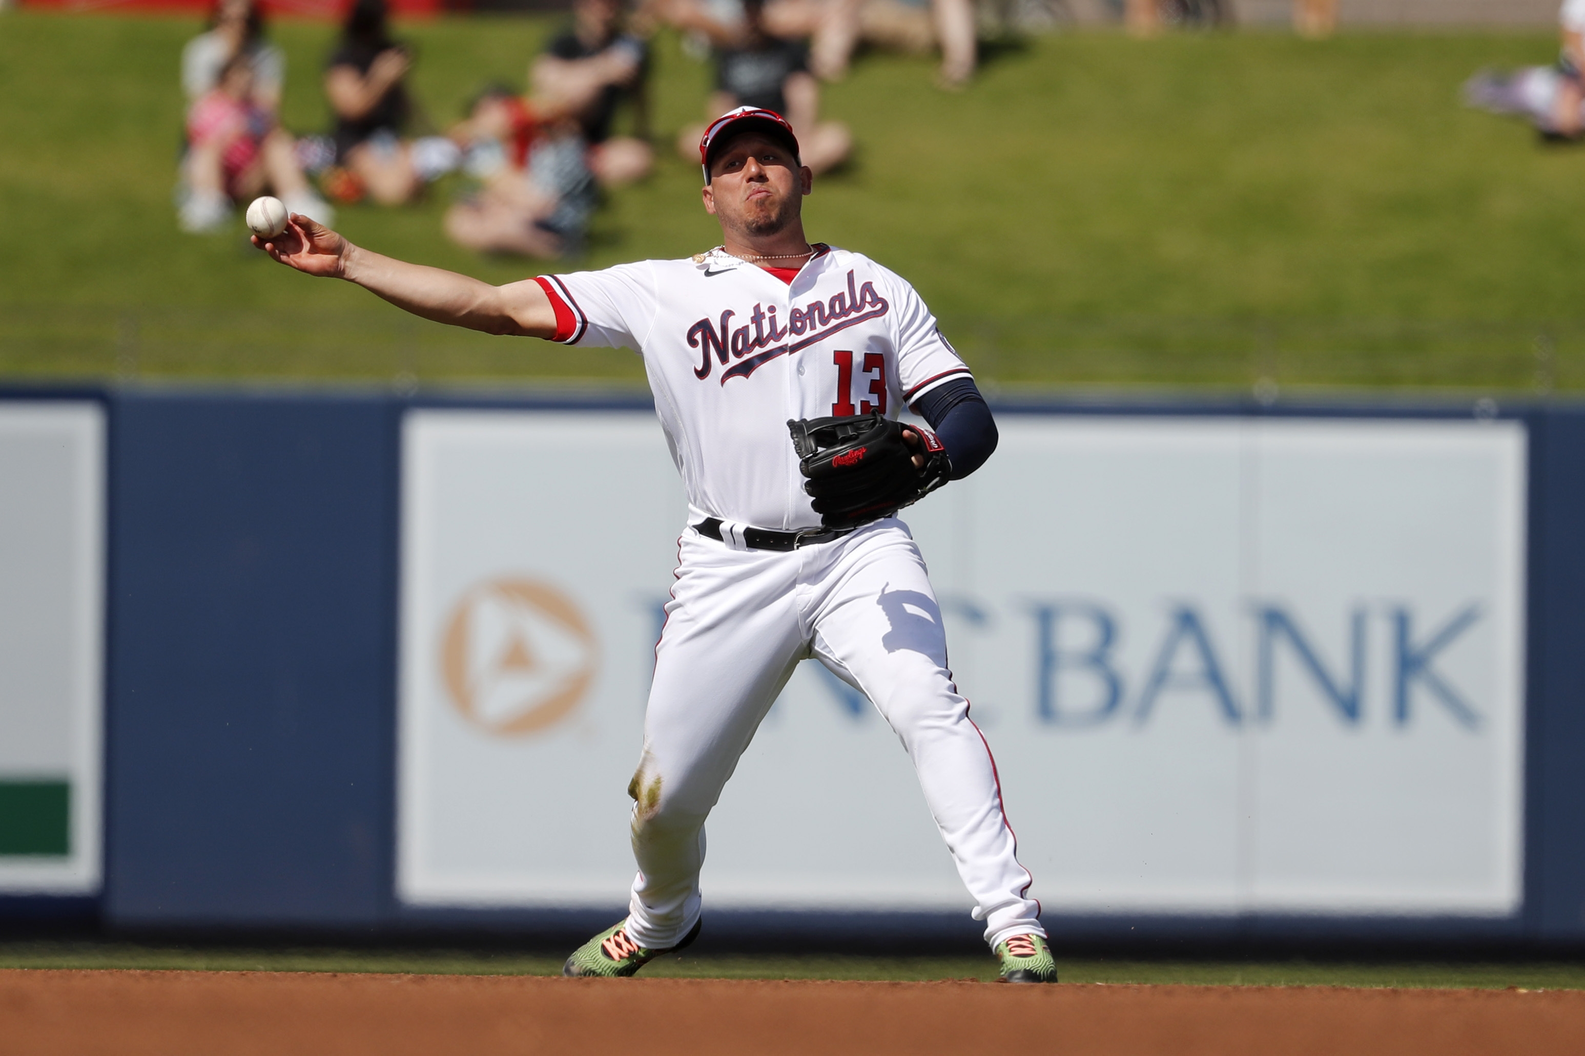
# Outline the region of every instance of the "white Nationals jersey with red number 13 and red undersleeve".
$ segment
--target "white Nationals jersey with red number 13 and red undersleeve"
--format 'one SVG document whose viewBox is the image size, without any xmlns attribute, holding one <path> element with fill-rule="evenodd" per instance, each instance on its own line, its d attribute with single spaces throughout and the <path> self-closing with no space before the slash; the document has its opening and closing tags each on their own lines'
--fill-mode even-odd
<svg viewBox="0 0 1585 1056">
<path fill-rule="evenodd" d="M 788 420 L 896 418 L 968 374 L 913 287 L 829 245 L 791 283 L 720 249 L 537 282 L 556 340 L 644 355 L 689 519 L 818 527 Z"/>
</svg>

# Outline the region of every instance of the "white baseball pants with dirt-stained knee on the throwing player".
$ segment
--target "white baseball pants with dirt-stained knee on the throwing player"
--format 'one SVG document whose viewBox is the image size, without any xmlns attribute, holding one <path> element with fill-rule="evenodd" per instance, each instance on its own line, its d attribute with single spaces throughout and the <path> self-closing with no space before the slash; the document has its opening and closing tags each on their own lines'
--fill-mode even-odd
<svg viewBox="0 0 1585 1056">
<path fill-rule="evenodd" d="M 632 777 L 628 934 L 677 945 L 699 920 L 704 820 L 770 705 L 810 655 L 861 690 L 902 741 L 992 948 L 1045 934 L 995 763 L 946 668 L 924 559 L 894 518 L 792 553 L 686 530 Z"/>
</svg>

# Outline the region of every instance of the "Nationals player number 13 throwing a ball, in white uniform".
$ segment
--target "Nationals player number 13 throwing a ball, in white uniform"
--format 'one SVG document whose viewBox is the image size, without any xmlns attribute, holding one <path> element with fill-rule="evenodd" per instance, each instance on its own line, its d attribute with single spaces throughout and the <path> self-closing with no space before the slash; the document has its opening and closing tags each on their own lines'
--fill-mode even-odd
<svg viewBox="0 0 1585 1056">
<path fill-rule="evenodd" d="M 892 516 L 989 458 L 991 412 L 913 287 L 805 239 L 813 176 L 791 125 L 743 106 L 705 130 L 699 155 L 723 244 L 685 260 L 491 287 L 371 253 L 298 214 L 254 244 L 425 318 L 644 356 L 689 522 L 628 787 L 628 917 L 574 952 L 567 975 L 632 975 L 699 934 L 705 817 L 813 657 L 902 741 L 1002 978 L 1056 982 L 924 559 Z M 896 423 L 905 404 L 935 432 Z"/>
</svg>

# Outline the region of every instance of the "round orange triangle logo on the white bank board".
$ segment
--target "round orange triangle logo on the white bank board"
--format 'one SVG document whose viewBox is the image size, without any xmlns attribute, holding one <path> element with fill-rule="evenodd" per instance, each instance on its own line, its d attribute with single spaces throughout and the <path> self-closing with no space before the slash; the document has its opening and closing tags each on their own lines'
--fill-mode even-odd
<svg viewBox="0 0 1585 1056">
<path fill-rule="evenodd" d="M 599 649 L 572 598 L 536 579 L 471 589 L 441 635 L 441 678 L 458 712 L 495 735 L 544 730 L 579 706 Z"/>
</svg>

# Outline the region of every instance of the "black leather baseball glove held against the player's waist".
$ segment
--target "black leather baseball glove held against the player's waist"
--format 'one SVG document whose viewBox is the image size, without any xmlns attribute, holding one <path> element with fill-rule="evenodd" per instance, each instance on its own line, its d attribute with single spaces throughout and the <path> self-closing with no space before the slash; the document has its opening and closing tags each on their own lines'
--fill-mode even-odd
<svg viewBox="0 0 1585 1056">
<path fill-rule="evenodd" d="M 851 418 L 788 421 L 804 470 L 804 491 L 827 529 L 850 529 L 891 516 L 946 483 L 953 464 L 927 429 L 908 426 L 922 451 L 902 439 L 903 424 L 880 412 Z M 913 464 L 922 454 L 924 465 Z"/>
</svg>

